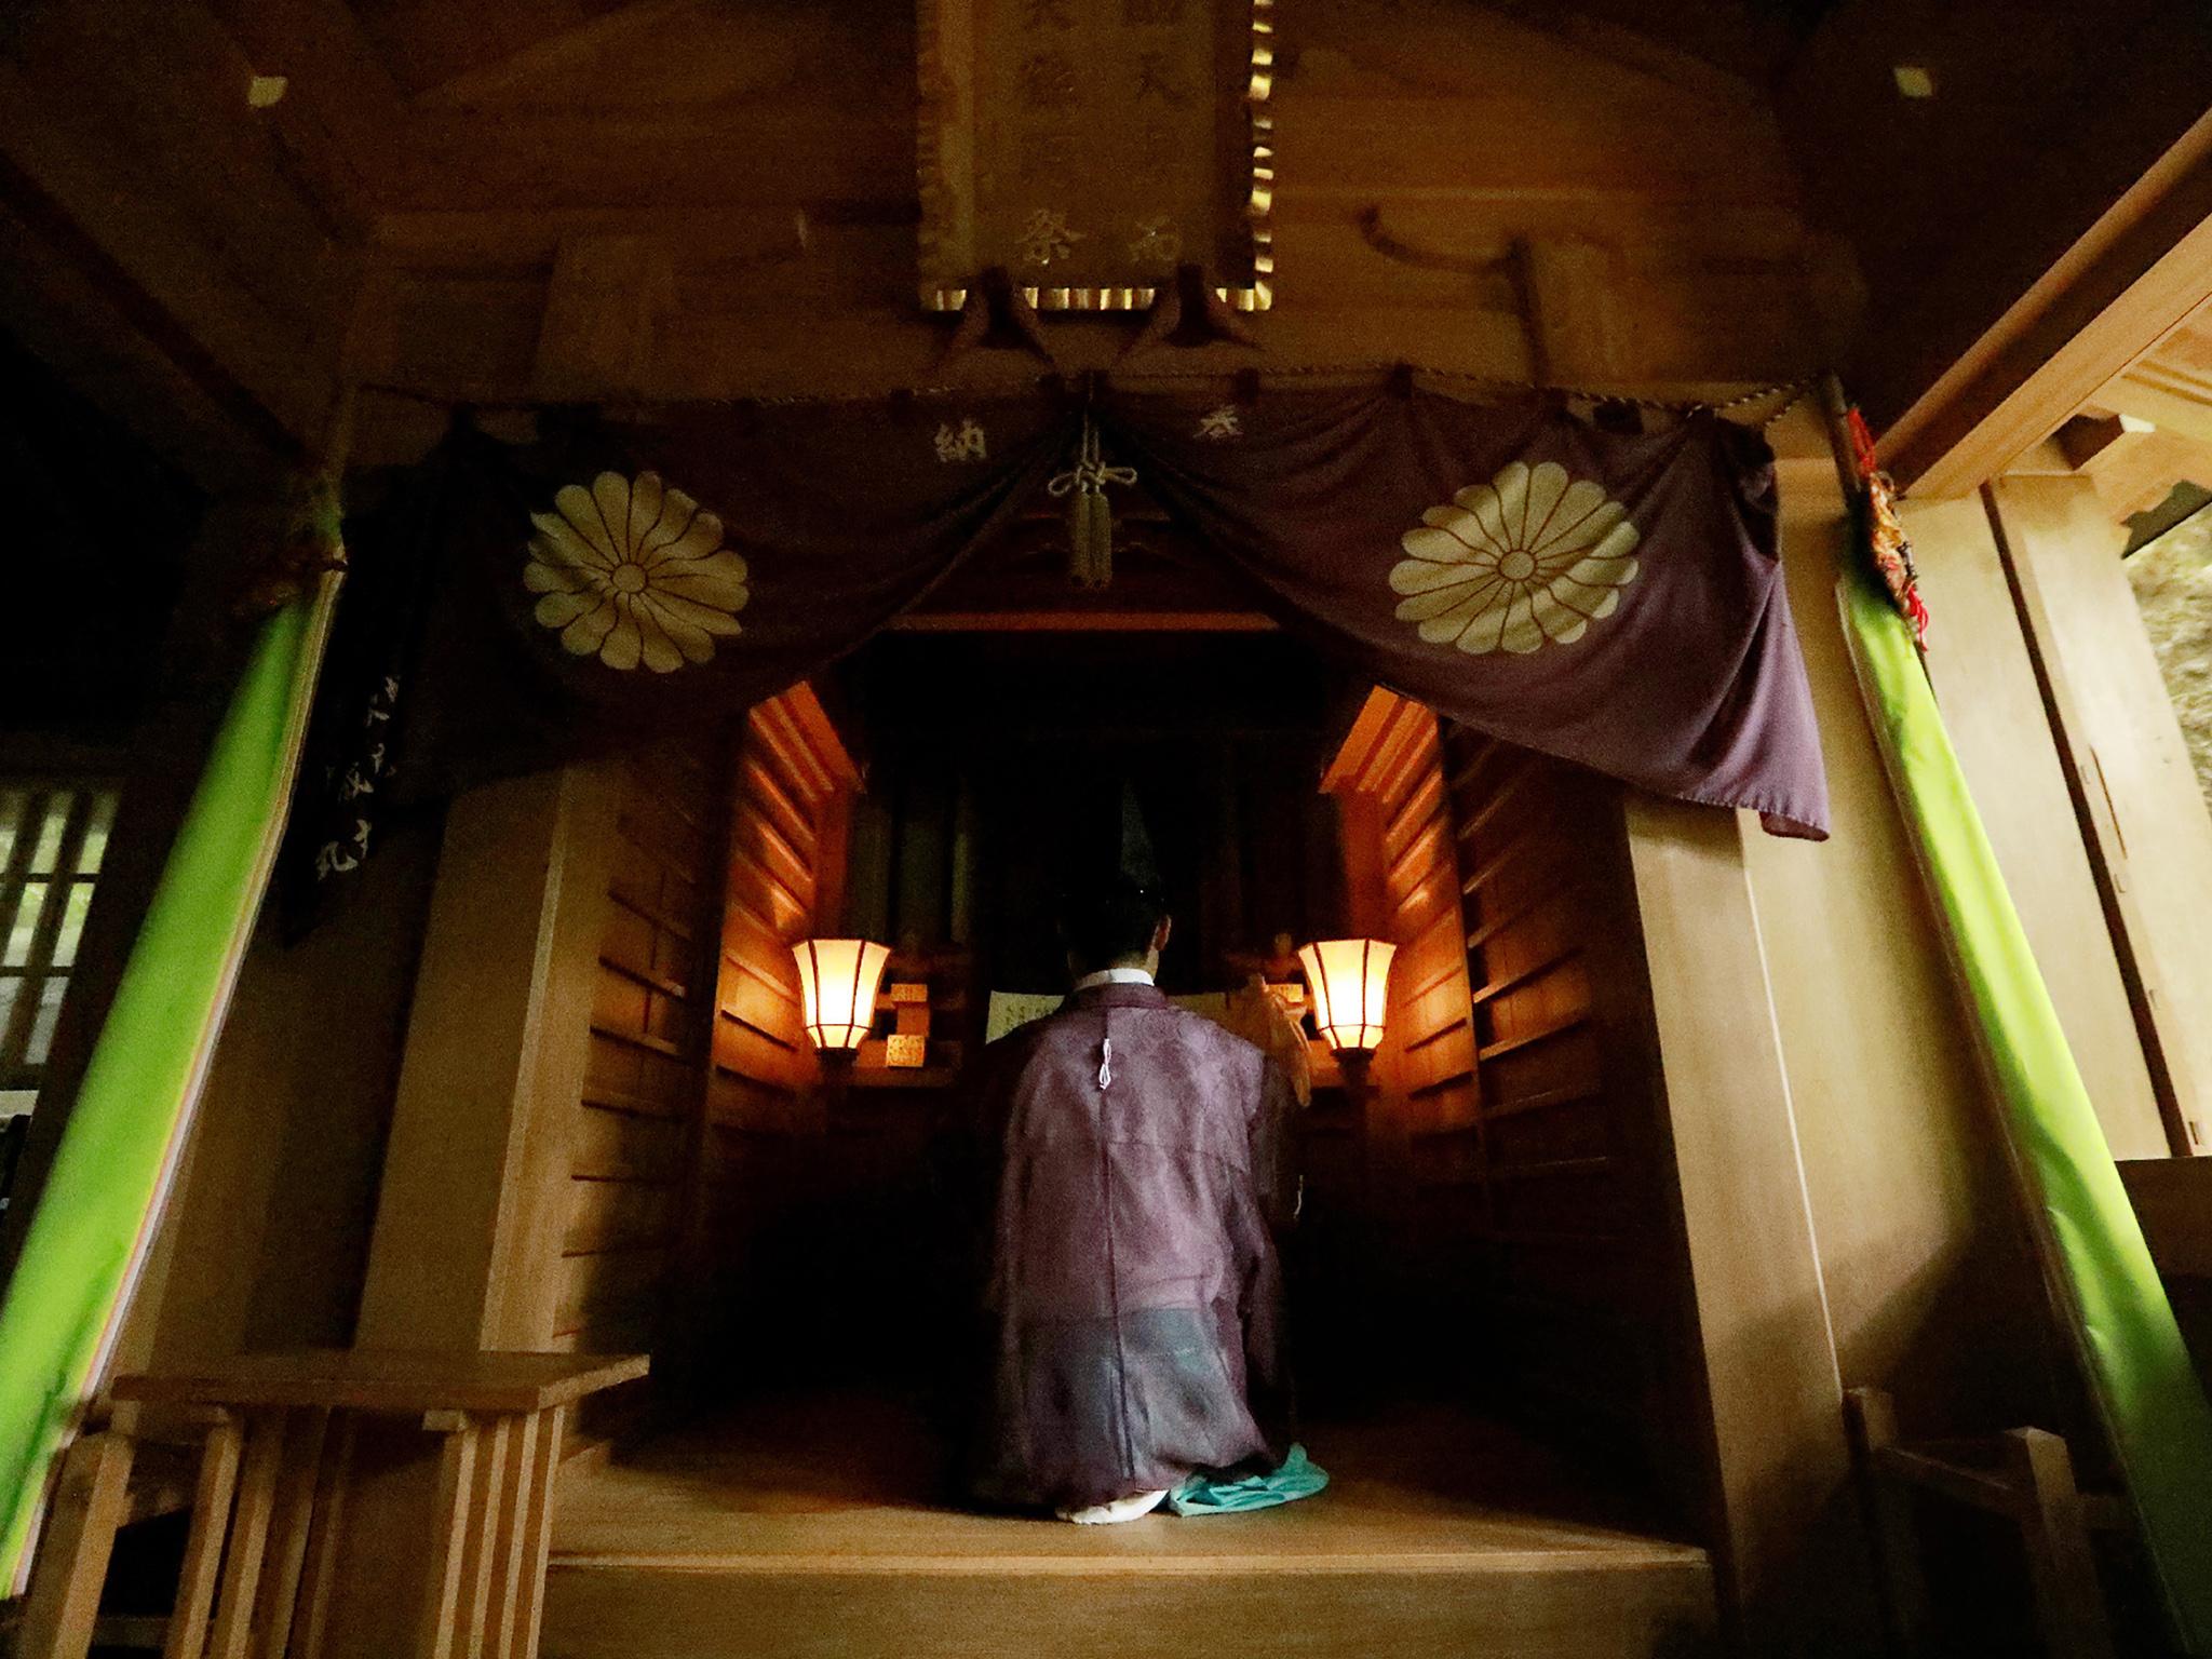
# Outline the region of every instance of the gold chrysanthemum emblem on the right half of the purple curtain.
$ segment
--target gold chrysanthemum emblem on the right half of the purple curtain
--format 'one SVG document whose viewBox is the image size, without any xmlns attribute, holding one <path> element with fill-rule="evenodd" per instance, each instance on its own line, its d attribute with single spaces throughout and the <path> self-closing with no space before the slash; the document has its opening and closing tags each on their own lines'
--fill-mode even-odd
<svg viewBox="0 0 2212 1659">
<path fill-rule="evenodd" d="M 1637 580 L 1628 509 L 1555 460 L 1515 460 L 1420 520 L 1398 538 L 1407 557 L 1389 584 L 1405 595 L 1398 619 L 1420 624 L 1431 646 L 1471 655 L 1571 646 Z"/>
</svg>

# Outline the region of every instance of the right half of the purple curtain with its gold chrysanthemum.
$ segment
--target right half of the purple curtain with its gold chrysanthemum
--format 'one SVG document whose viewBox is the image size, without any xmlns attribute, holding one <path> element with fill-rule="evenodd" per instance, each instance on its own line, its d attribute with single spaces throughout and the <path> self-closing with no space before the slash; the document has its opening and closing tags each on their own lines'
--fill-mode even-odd
<svg viewBox="0 0 2212 1659">
<path fill-rule="evenodd" d="M 1374 679 L 1659 794 L 1827 834 L 1774 458 L 1425 392 L 1113 396 L 1108 451 Z"/>
</svg>

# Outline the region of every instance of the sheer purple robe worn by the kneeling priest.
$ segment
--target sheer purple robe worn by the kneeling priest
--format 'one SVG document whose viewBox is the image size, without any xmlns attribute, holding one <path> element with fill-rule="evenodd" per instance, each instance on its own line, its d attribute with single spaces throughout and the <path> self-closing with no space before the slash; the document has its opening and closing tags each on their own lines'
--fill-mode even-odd
<svg viewBox="0 0 2212 1659">
<path fill-rule="evenodd" d="M 971 1480 L 1086 1506 L 1279 1458 L 1290 1086 L 1148 984 L 993 1044 L 991 1376 Z"/>
</svg>

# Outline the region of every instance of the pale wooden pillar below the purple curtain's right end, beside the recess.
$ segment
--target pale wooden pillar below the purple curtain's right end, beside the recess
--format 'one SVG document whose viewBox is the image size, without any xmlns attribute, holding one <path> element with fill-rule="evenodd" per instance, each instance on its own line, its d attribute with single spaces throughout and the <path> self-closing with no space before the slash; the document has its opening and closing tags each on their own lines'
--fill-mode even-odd
<svg viewBox="0 0 2212 1659">
<path fill-rule="evenodd" d="M 1635 792 L 1626 816 L 1712 1409 L 1723 1604 L 1747 1652 L 1851 1652 L 1871 1610 L 1858 1564 L 1834 1555 L 1843 1380 L 1743 827 Z"/>
</svg>

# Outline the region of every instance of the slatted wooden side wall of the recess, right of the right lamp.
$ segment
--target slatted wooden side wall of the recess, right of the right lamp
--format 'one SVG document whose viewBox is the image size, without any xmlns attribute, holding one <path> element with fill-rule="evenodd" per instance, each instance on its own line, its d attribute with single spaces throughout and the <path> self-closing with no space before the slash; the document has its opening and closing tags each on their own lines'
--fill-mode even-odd
<svg viewBox="0 0 2212 1659">
<path fill-rule="evenodd" d="M 1444 754 L 1486 1148 L 1489 1371 L 1517 1411 L 1641 1453 L 1670 1427 L 1670 1177 L 1635 1044 L 1606 1029 L 1601 978 L 1632 936 L 1617 790 L 1464 730 Z"/>
</svg>

